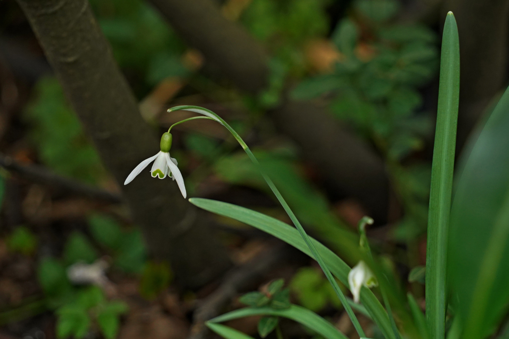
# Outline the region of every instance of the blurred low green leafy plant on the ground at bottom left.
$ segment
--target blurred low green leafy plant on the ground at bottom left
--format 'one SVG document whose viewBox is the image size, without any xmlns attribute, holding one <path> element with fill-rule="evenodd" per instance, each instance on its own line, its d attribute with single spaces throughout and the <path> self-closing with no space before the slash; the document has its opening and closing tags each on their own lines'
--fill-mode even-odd
<svg viewBox="0 0 509 339">
<path fill-rule="evenodd" d="M 129 239 L 126 245 L 124 236 L 129 233 L 123 231 L 111 218 L 92 215 L 90 225 L 98 243 L 107 246 L 110 251 L 119 248 L 128 251 Z M 139 246 L 140 244 L 134 245 L 134 252 Z M 122 252 L 119 256 L 122 256 Z M 47 306 L 55 309 L 58 316 L 56 334 L 59 338 L 83 338 L 93 327 L 98 328 L 107 339 L 113 339 L 117 335 L 119 317 L 127 312 L 127 305 L 120 300 L 106 300 L 99 287 L 74 286 L 68 278 L 67 269 L 71 265 L 91 264 L 98 257 L 98 251 L 89 239 L 82 233 L 73 232 L 64 246 L 62 260 L 45 258 L 39 264 L 39 283 L 46 295 Z M 131 271 L 131 268 L 132 266 L 128 265 L 127 271 Z"/>
</svg>

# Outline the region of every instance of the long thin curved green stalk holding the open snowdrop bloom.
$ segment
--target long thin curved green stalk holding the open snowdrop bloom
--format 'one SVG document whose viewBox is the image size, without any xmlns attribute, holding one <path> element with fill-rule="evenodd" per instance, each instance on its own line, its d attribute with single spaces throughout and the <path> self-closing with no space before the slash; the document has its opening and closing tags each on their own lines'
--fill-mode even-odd
<svg viewBox="0 0 509 339">
<path fill-rule="evenodd" d="M 309 236 L 304 231 L 304 228 L 302 227 L 300 222 L 297 220 L 297 217 L 295 216 L 293 211 L 290 209 L 290 206 L 288 206 L 288 203 L 281 196 L 281 193 L 279 193 L 279 190 L 275 187 L 274 183 L 269 178 L 269 176 L 267 176 L 267 174 L 265 174 L 264 170 L 260 166 L 260 163 L 258 162 L 256 157 L 254 157 L 254 155 L 251 152 L 251 150 L 249 149 L 249 147 L 247 147 L 247 144 L 244 142 L 244 140 L 242 140 L 242 138 L 237 134 L 237 132 L 235 132 L 235 130 L 230 125 L 228 125 L 228 123 L 226 121 L 224 121 L 219 115 L 217 115 L 216 113 L 214 113 L 214 112 L 212 112 L 212 111 L 210 111 L 210 110 L 208 110 L 206 108 L 199 107 L 199 106 L 176 106 L 176 107 L 172 107 L 172 108 L 168 109 L 168 112 L 173 112 L 173 111 L 178 111 L 178 110 L 186 110 L 186 111 L 191 111 L 191 112 L 195 112 L 195 113 L 199 113 L 199 114 L 205 115 L 205 116 L 202 116 L 202 117 L 194 117 L 194 118 L 206 118 L 206 119 L 216 120 L 217 122 L 219 122 L 219 124 L 223 125 L 234 136 L 234 138 L 239 142 L 239 144 L 242 146 L 244 151 L 247 153 L 247 156 L 249 157 L 249 159 L 254 163 L 255 166 L 257 166 L 258 170 L 262 174 L 263 178 L 265 179 L 265 181 L 269 185 L 270 189 L 272 190 L 272 192 L 276 196 L 276 198 L 279 201 L 279 203 L 282 205 L 282 207 L 287 212 L 288 216 L 290 217 L 290 219 L 292 220 L 293 224 L 295 225 L 295 227 L 299 231 L 300 235 L 304 239 L 305 243 L 307 244 L 309 250 L 313 254 L 313 257 L 315 258 L 316 261 L 318 261 L 318 264 L 320 265 L 320 267 L 322 268 L 323 272 L 325 273 L 325 276 L 327 277 L 327 280 L 332 285 L 334 291 L 336 292 L 336 295 L 340 298 L 341 303 L 345 307 L 345 310 L 347 311 L 347 314 L 350 317 L 350 320 L 352 321 L 352 324 L 354 325 L 355 329 L 357 330 L 357 333 L 359 334 L 359 336 L 361 338 L 365 337 L 366 335 L 364 334 L 364 330 L 360 326 L 359 321 L 357 320 L 357 317 L 353 313 L 352 307 L 348 303 L 348 300 L 345 297 L 345 295 L 343 294 L 343 291 L 341 291 L 340 287 L 337 285 L 337 282 L 333 278 L 332 273 L 330 272 L 329 268 L 325 265 L 325 262 L 323 261 L 322 256 L 318 253 L 317 249 L 315 248 L 315 245 L 311 242 L 311 240 L 309 239 Z M 186 120 L 190 120 L 190 119 L 193 119 L 193 118 L 189 118 L 189 119 L 186 119 Z M 182 120 L 180 122 L 177 122 L 177 124 L 180 124 L 181 122 L 184 122 L 186 120 Z M 174 124 L 174 125 L 176 125 L 176 124 Z M 170 127 L 170 129 L 172 127 Z"/>
</svg>

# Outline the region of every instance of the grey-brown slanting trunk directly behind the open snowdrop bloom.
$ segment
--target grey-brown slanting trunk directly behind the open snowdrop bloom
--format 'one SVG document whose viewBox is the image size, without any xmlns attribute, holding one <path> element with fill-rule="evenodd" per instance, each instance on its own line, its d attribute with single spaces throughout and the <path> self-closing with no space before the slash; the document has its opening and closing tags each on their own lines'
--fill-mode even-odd
<svg viewBox="0 0 509 339">
<path fill-rule="evenodd" d="M 84 130 L 119 184 L 159 151 L 87 0 L 17 0 L 58 76 Z M 152 254 L 168 259 L 178 281 L 199 286 L 229 266 L 203 218 L 172 180 L 144 170 L 123 186 L 134 220 Z"/>
</svg>

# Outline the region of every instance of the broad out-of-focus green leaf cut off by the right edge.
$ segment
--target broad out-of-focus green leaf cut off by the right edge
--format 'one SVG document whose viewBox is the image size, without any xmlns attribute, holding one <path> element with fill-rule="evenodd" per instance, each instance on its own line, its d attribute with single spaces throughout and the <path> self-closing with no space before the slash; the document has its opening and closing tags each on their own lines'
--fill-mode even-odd
<svg viewBox="0 0 509 339">
<path fill-rule="evenodd" d="M 449 234 L 448 276 L 466 339 L 484 338 L 509 305 L 509 90 L 461 171 Z"/>
</svg>

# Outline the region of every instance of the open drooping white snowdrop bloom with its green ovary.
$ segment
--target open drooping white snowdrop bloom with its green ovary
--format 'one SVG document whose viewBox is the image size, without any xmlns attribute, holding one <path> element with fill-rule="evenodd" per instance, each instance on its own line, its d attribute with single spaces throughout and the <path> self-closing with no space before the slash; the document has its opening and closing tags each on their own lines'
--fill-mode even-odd
<svg viewBox="0 0 509 339">
<path fill-rule="evenodd" d="M 136 177 L 136 175 L 141 173 L 145 167 L 147 167 L 152 161 L 155 160 L 150 170 L 152 177 L 164 179 L 166 175 L 169 175 L 174 180 L 177 180 L 180 192 L 185 198 L 187 196 L 186 187 L 184 186 L 184 179 L 182 178 L 182 174 L 177 167 L 177 160 L 169 156 L 169 149 L 172 147 L 172 135 L 168 132 L 164 133 L 161 137 L 160 146 L 161 150 L 159 153 L 140 162 L 139 165 L 132 170 L 131 174 L 127 176 L 126 181 L 124 181 L 124 185 L 127 185 L 129 182 L 131 182 Z"/>
</svg>

